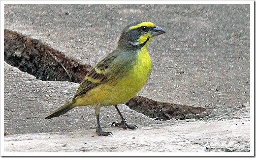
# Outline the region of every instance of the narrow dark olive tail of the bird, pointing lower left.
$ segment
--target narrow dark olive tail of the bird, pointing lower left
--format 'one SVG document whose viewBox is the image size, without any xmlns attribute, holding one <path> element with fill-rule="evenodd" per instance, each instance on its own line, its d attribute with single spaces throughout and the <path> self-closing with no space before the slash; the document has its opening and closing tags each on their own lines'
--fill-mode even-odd
<svg viewBox="0 0 256 158">
<path fill-rule="evenodd" d="M 45 117 L 44 119 L 50 119 L 53 117 L 59 117 L 61 115 L 63 115 L 64 113 L 66 113 L 67 111 L 69 111 L 70 109 L 75 107 L 75 101 L 70 101 L 68 103 L 66 103 L 65 105 L 61 106 L 60 108 L 58 108 L 56 111 L 54 111 L 53 113 L 51 113 L 49 116 Z"/>
</svg>

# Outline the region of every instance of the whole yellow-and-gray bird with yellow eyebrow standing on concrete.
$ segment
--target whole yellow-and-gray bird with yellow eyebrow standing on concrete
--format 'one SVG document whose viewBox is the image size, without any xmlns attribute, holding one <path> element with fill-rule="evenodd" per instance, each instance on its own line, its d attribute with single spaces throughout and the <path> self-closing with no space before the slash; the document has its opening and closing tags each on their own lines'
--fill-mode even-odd
<svg viewBox="0 0 256 158">
<path fill-rule="evenodd" d="M 111 125 L 135 130 L 120 112 L 117 105 L 133 98 L 145 85 L 152 72 L 152 61 L 147 47 L 152 39 L 165 30 L 149 21 L 140 21 L 126 26 L 121 33 L 117 48 L 96 64 L 82 80 L 73 99 L 45 119 L 58 117 L 76 106 L 95 105 L 97 135 L 113 135 L 104 132 L 99 113 L 102 106 L 115 106 L 121 122 Z"/>
</svg>

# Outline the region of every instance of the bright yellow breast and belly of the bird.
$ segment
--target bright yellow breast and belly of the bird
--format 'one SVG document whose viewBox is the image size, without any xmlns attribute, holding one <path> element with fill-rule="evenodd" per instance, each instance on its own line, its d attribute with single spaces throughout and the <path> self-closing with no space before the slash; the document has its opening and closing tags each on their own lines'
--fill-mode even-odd
<svg viewBox="0 0 256 158">
<path fill-rule="evenodd" d="M 147 49 L 142 49 L 137 54 L 133 69 L 126 76 L 118 81 L 109 80 L 98 85 L 88 93 L 77 99 L 77 105 L 96 105 L 102 106 L 117 105 L 127 102 L 134 97 L 145 85 L 150 77 L 152 70 L 151 58 Z"/>
</svg>

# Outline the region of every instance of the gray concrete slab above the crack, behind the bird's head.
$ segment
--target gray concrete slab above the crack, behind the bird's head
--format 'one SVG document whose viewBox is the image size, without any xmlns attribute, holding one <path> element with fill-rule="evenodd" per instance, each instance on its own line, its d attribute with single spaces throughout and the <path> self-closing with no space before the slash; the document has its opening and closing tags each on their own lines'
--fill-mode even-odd
<svg viewBox="0 0 256 158">
<path fill-rule="evenodd" d="M 236 106 L 250 100 L 249 4 L 5 4 L 4 9 L 5 29 L 93 66 L 115 49 L 125 26 L 152 21 L 166 33 L 149 45 L 154 69 L 141 95 L 182 105 Z"/>
</svg>

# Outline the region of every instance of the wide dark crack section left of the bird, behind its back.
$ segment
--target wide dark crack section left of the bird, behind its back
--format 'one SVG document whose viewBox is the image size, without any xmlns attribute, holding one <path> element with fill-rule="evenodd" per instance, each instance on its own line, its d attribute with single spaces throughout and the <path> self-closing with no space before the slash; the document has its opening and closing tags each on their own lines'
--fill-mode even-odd
<svg viewBox="0 0 256 158">
<path fill-rule="evenodd" d="M 4 29 L 4 61 L 41 80 L 81 82 L 92 68 L 20 33 Z"/>
</svg>

